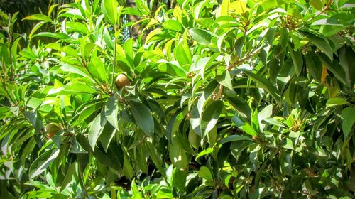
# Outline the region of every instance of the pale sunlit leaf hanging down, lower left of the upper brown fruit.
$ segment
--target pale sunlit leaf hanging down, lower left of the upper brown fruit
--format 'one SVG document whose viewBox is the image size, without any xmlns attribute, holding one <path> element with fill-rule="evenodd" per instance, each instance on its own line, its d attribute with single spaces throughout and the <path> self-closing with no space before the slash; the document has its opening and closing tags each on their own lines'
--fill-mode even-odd
<svg viewBox="0 0 355 199">
<path fill-rule="evenodd" d="M 104 129 L 106 123 L 107 123 L 107 119 L 105 117 L 104 112 L 102 112 L 98 114 L 97 117 L 95 117 L 95 119 L 90 124 L 88 139 L 92 151 L 94 151 L 97 139 L 102 133 L 102 130 Z"/>
</svg>

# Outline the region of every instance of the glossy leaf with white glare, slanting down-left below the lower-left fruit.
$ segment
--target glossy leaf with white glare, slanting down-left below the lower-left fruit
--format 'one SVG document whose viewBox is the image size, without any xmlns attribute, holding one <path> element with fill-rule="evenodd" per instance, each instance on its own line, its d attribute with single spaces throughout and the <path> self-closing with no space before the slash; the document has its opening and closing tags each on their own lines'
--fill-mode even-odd
<svg viewBox="0 0 355 199">
<path fill-rule="evenodd" d="M 29 169 L 29 178 L 33 179 L 43 173 L 50 163 L 52 163 L 55 158 L 57 158 L 60 150 L 58 148 L 50 149 L 41 154 L 38 158 L 33 161 Z"/>
</svg>

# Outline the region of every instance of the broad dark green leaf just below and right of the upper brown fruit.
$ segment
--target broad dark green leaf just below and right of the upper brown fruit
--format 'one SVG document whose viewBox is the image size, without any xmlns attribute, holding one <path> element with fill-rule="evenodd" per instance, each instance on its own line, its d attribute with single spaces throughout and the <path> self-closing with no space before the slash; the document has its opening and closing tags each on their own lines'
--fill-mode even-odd
<svg viewBox="0 0 355 199">
<path fill-rule="evenodd" d="M 133 115 L 135 124 L 142 129 L 148 136 L 153 136 L 154 134 L 154 120 L 151 110 L 146 107 L 146 105 L 141 102 L 131 101 L 130 111 Z"/>
</svg>

